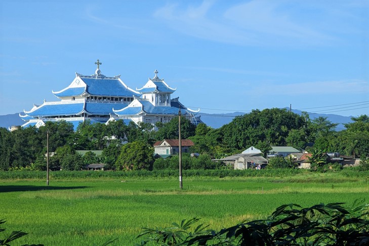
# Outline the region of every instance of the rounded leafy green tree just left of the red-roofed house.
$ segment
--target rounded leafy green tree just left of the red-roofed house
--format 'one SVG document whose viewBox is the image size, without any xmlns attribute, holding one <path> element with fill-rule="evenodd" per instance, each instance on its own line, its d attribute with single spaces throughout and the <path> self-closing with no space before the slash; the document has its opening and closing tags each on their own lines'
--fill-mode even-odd
<svg viewBox="0 0 369 246">
<path fill-rule="evenodd" d="M 119 170 L 150 170 L 154 162 L 153 152 L 145 142 L 127 143 L 121 147 L 115 166 Z"/>
</svg>

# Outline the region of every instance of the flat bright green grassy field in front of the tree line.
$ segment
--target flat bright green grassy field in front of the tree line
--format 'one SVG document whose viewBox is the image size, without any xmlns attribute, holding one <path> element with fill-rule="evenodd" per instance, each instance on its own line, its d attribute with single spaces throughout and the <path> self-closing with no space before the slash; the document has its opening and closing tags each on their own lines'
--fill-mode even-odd
<svg viewBox="0 0 369 246">
<path fill-rule="evenodd" d="M 142 227 L 202 218 L 220 229 L 266 218 L 281 204 L 369 198 L 366 178 L 306 174 L 285 178 L 0 180 L 0 219 L 7 232 L 29 232 L 12 245 L 133 245 Z"/>
</svg>

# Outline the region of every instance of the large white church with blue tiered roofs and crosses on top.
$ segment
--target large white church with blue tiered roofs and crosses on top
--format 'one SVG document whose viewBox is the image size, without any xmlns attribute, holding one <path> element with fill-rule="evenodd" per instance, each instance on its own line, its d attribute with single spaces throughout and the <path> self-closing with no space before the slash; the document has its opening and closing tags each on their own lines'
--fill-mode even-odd
<svg viewBox="0 0 369 246">
<path fill-rule="evenodd" d="M 176 89 L 171 88 L 157 76 L 149 78 L 141 88 L 133 90 L 121 79 L 120 75 L 108 77 L 101 73 L 101 62 L 97 60 L 95 74 L 75 73 L 72 83 L 53 94 L 59 101 L 33 105 L 32 109 L 19 116 L 25 121 L 22 127 L 44 126 L 46 121 L 66 120 L 76 130 L 78 124 L 85 120 L 91 123 L 108 124 L 111 120 L 122 119 L 125 124 L 133 121 L 149 123 L 155 129 L 156 122 L 169 122 L 181 113 L 182 116 L 197 125 L 200 122 L 196 113 L 178 101 L 171 99 Z"/>
</svg>

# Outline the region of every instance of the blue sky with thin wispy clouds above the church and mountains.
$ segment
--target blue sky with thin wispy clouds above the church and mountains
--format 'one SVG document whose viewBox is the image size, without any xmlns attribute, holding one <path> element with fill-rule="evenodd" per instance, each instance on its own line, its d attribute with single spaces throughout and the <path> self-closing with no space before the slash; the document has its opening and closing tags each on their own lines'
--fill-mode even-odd
<svg viewBox="0 0 369 246">
<path fill-rule="evenodd" d="M 57 101 L 97 59 L 133 89 L 157 69 L 201 112 L 369 114 L 369 1 L 0 2 L 0 115 Z"/>
</svg>

